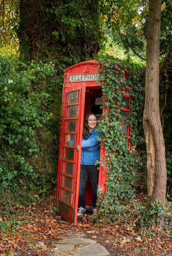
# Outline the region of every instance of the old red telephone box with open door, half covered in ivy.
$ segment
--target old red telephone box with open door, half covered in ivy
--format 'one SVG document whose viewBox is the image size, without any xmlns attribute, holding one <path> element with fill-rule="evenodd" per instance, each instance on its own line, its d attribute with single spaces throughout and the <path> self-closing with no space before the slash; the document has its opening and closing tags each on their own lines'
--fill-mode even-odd
<svg viewBox="0 0 172 256">
<path fill-rule="evenodd" d="M 97 119 L 101 120 L 104 109 L 101 84 L 101 65 L 98 61 L 85 61 L 69 67 L 64 71 L 63 99 L 61 112 L 61 130 L 59 163 L 57 177 L 57 204 L 60 206 L 60 215 L 66 221 L 77 222 L 78 192 L 80 180 L 80 158 L 83 134 L 83 121 L 85 116 L 93 112 Z M 123 115 L 129 113 L 131 97 L 123 95 L 126 109 L 120 108 Z M 122 132 L 129 137 L 129 127 L 121 123 Z M 74 141 L 73 146 L 66 143 L 66 136 Z M 104 155 L 104 148 L 100 149 L 100 155 Z M 99 188 L 105 190 L 106 170 L 100 166 Z M 92 204 L 92 188 L 87 180 L 86 205 Z"/>
</svg>

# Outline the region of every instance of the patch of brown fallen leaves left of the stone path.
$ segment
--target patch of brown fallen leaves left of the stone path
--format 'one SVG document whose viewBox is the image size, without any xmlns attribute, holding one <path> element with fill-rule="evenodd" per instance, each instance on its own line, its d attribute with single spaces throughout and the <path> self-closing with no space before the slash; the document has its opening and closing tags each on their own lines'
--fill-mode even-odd
<svg viewBox="0 0 172 256">
<path fill-rule="evenodd" d="M 41 204 L 32 204 L 26 209 L 17 208 L 17 214 L 13 214 L 14 208 L 9 209 L 8 215 L 1 215 L 0 222 L 4 223 L 4 228 L 0 233 L 0 255 L 17 250 L 23 251 L 22 247 L 27 247 L 27 241 L 54 241 L 63 237 L 67 230 L 72 229 L 69 223 L 55 216 L 50 210 L 52 201 L 47 198 Z M 5 224 L 7 225 L 5 228 Z M 15 226 L 15 228 L 14 228 Z M 59 236 L 60 235 L 60 236 Z M 46 248 L 47 252 L 52 249 Z M 46 255 L 46 253 L 44 253 Z M 32 253 L 32 255 L 43 256 L 43 253 Z M 4 254 L 6 255 L 6 254 Z"/>
</svg>

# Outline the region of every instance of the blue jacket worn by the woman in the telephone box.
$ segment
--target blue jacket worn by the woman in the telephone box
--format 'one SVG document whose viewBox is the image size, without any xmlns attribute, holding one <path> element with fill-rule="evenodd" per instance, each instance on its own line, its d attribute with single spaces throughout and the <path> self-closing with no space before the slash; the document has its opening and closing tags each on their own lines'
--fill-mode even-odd
<svg viewBox="0 0 172 256">
<path fill-rule="evenodd" d="M 100 141 L 96 137 L 100 137 L 100 132 L 94 129 L 87 136 L 88 139 L 82 139 L 80 164 L 93 165 L 97 160 L 100 161 Z"/>
</svg>

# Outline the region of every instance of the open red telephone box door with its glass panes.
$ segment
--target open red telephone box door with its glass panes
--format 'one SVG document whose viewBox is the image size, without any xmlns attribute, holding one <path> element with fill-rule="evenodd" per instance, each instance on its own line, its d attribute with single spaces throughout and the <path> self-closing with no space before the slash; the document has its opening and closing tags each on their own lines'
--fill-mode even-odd
<svg viewBox="0 0 172 256">
<path fill-rule="evenodd" d="M 71 223 L 77 222 L 84 100 L 85 87 L 82 84 L 71 84 L 64 89 L 57 203 L 61 217 Z"/>
</svg>

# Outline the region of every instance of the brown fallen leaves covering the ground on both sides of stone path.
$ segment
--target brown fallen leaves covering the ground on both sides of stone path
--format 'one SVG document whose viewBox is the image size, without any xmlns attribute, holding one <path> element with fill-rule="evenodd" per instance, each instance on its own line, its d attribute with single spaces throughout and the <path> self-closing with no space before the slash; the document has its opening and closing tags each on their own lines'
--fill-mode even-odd
<svg viewBox="0 0 172 256">
<path fill-rule="evenodd" d="M 13 255 L 18 251 L 26 253 L 32 250 L 34 256 L 46 256 L 54 249 L 53 244 L 52 247 L 47 247 L 46 242 L 65 238 L 69 230 L 85 233 L 90 239 L 103 243 L 112 251 L 113 248 L 120 248 L 135 253 L 141 251 L 158 254 L 160 250 L 172 250 L 172 236 L 167 231 L 153 227 L 152 237 L 146 237 L 146 233 L 140 235 L 137 228 L 132 225 L 134 219 L 126 227 L 125 223 L 119 221 L 113 224 L 106 224 L 104 221 L 95 224 L 90 215 L 87 215 L 80 218 L 77 224 L 69 224 L 55 215 L 52 209 L 52 200 L 47 198 L 41 204 L 32 204 L 26 209 L 18 207 L 15 215 L 14 209 L 10 209 L 9 215 L 1 215 L 0 223 L 6 222 L 8 225 L 0 233 L 0 255 L 6 256 L 8 252 Z M 29 248 L 29 244 L 35 244 L 35 249 Z M 135 254 L 128 253 L 128 256 L 131 255 Z"/>
</svg>

